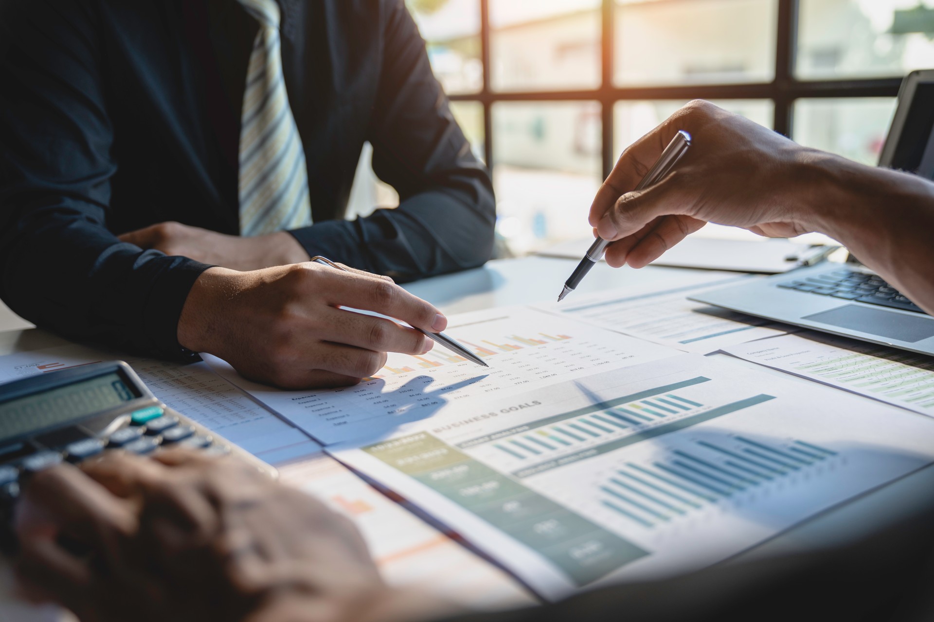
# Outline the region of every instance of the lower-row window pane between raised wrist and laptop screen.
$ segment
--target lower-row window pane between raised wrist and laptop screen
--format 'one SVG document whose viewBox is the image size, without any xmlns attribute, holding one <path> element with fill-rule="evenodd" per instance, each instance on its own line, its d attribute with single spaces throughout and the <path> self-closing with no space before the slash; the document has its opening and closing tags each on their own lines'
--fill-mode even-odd
<svg viewBox="0 0 934 622">
<path fill-rule="evenodd" d="M 875 166 L 895 104 L 892 97 L 798 100 L 793 138 L 801 145 Z"/>
</svg>

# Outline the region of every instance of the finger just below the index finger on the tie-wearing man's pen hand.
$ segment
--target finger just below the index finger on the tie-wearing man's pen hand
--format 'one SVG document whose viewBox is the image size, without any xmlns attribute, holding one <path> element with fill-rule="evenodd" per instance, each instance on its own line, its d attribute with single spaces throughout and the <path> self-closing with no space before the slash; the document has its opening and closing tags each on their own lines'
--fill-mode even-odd
<svg viewBox="0 0 934 622">
<path fill-rule="evenodd" d="M 342 309 L 328 309 L 325 316 L 328 320 L 328 330 L 322 335 L 322 339 L 334 343 L 346 343 L 374 352 L 405 354 L 424 354 L 434 345 L 432 339 L 414 328 L 401 326 L 384 318 Z"/>
</svg>

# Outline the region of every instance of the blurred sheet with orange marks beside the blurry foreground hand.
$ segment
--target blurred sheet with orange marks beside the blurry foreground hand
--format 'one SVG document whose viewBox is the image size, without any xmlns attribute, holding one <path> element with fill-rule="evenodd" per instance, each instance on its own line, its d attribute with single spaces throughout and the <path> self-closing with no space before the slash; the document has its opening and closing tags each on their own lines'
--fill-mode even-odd
<svg viewBox="0 0 934 622">
<path fill-rule="evenodd" d="M 533 604 L 511 576 L 406 510 L 330 456 L 279 467 L 280 480 L 301 488 L 354 521 L 386 581 L 419 587 L 471 608 Z"/>
</svg>

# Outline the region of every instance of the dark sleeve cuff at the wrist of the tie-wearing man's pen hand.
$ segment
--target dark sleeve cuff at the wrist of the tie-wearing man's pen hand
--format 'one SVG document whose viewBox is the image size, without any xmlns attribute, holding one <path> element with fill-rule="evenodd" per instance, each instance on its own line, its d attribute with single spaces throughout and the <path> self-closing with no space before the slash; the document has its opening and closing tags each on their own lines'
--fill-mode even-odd
<svg viewBox="0 0 934 622">
<path fill-rule="evenodd" d="M 161 267 L 161 274 L 153 280 L 152 289 L 143 309 L 143 326 L 152 341 L 156 354 L 184 363 L 200 361 L 197 352 L 191 352 L 178 343 L 178 318 L 191 291 L 191 286 L 210 264 L 188 257 L 169 256 Z"/>
</svg>

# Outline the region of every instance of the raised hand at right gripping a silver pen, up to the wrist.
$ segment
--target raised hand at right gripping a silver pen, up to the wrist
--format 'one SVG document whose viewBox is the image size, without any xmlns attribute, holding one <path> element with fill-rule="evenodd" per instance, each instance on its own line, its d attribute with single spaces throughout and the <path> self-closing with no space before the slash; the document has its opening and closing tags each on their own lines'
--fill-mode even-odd
<svg viewBox="0 0 934 622">
<path fill-rule="evenodd" d="M 674 171 L 633 192 L 679 130 L 693 138 Z M 708 222 L 769 237 L 814 230 L 806 163 L 823 154 L 708 102 L 691 102 L 630 145 L 590 207 L 590 225 L 615 241 L 606 261 L 642 268 Z"/>
</svg>

